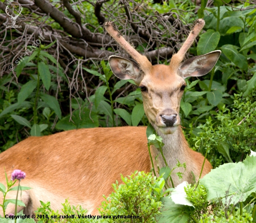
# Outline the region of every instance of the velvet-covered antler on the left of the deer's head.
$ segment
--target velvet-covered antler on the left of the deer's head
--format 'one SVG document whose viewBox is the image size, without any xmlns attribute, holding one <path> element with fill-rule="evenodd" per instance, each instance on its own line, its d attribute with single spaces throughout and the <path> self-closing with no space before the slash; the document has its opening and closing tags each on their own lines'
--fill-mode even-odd
<svg viewBox="0 0 256 223">
<path fill-rule="evenodd" d="M 140 65 L 143 72 L 150 71 L 152 64 L 149 62 L 148 58 L 144 55 L 141 55 L 136 51 L 122 36 L 117 26 L 113 21 L 107 21 L 104 24 L 105 29 L 108 34 L 112 36 L 115 41 L 126 51 L 128 54 L 135 59 L 135 61 Z"/>
</svg>

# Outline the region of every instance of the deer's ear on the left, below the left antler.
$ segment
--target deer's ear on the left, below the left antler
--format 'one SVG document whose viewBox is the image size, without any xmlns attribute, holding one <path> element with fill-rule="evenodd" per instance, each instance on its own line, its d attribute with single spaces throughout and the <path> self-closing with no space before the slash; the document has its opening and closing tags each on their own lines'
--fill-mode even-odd
<svg viewBox="0 0 256 223">
<path fill-rule="evenodd" d="M 110 56 L 108 59 L 112 72 L 120 79 L 133 79 L 137 85 L 143 78 L 143 72 L 134 62 L 118 56 Z"/>
</svg>

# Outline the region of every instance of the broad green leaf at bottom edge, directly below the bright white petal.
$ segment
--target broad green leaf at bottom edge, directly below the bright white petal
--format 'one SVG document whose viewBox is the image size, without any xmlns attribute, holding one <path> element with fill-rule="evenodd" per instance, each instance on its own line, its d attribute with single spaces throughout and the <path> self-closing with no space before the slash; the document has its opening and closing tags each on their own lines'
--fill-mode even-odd
<svg viewBox="0 0 256 223">
<path fill-rule="evenodd" d="M 164 207 L 161 215 L 157 217 L 158 223 L 187 223 L 189 210 L 194 209 L 187 205 L 175 204 L 170 197 L 162 197 Z"/>
</svg>

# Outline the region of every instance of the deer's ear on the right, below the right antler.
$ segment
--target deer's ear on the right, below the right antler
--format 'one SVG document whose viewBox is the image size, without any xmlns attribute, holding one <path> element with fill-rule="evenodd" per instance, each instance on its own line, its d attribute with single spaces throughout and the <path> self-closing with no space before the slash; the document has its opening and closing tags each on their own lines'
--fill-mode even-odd
<svg viewBox="0 0 256 223">
<path fill-rule="evenodd" d="M 188 77 L 200 77 L 207 74 L 215 65 L 221 55 L 220 50 L 192 57 L 185 60 L 179 67 L 179 75 L 185 79 Z"/>
</svg>

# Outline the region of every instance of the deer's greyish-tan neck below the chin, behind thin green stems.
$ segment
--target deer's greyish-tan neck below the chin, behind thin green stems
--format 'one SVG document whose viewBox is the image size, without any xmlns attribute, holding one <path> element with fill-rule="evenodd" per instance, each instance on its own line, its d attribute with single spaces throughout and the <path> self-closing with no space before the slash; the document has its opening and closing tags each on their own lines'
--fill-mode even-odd
<svg viewBox="0 0 256 223">
<path fill-rule="evenodd" d="M 193 180 L 193 174 L 191 173 L 191 171 L 195 173 L 196 168 L 194 166 L 194 162 L 192 161 L 193 158 L 189 153 L 189 146 L 182 133 L 181 127 L 179 127 L 173 134 L 165 135 L 161 131 L 157 131 L 157 134 L 163 139 L 162 142 L 164 143 L 164 146 L 162 147 L 162 152 L 167 161 L 168 167 L 172 170 L 176 166 L 178 161 L 180 163 L 186 163 L 187 165 L 186 171 L 182 167 L 177 168 L 173 171 L 173 173 L 184 173 L 181 181 L 176 174 L 171 175 L 174 185 L 177 186 L 183 181 L 191 183 Z M 150 151 L 153 158 L 155 170 L 158 170 L 157 167 L 159 167 L 159 169 L 165 167 L 166 164 L 164 162 L 160 149 L 156 148 L 154 145 L 151 145 Z M 169 186 L 171 186 L 171 184 L 169 184 Z"/>
</svg>

